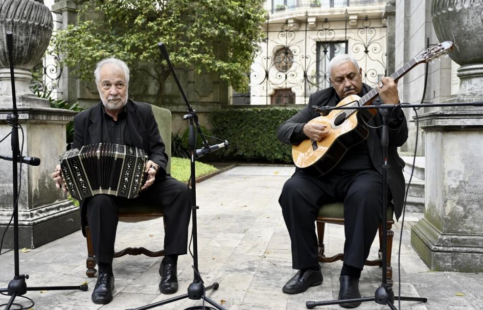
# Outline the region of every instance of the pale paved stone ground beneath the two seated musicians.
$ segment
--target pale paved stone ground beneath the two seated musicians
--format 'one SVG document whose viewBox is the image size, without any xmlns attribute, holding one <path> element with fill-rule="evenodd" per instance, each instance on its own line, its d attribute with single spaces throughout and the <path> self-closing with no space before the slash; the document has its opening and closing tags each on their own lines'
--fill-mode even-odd
<svg viewBox="0 0 483 310">
<path fill-rule="evenodd" d="M 220 288 L 207 296 L 227 309 L 306 309 L 307 300 L 337 297 L 341 262 L 322 264 L 323 284 L 298 295 L 282 293 L 283 284 L 294 274 L 291 269 L 290 240 L 283 222 L 278 197 L 293 168 L 281 166 L 241 166 L 197 184 L 199 270 L 205 283 L 217 281 Z M 411 248 L 409 232 L 422 214 L 406 214 L 401 247 L 401 291 L 403 296 L 427 297 L 428 302 L 401 302 L 402 309 L 483 309 L 480 294 L 483 275 L 431 272 Z M 129 246 L 161 249 L 162 219 L 142 223 L 120 223 L 117 248 Z M 400 224 L 396 224 L 393 245 L 394 290 L 397 295 L 398 243 Z M 55 228 L 52 228 L 55 229 Z M 325 237 L 329 253 L 341 252 L 343 227 L 328 225 Z M 376 242 L 378 243 L 378 242 Z M 378 245 L 372 248 L 377 255 Z M 29 292 L 33 309 L 127 309 L 164 300 L 158 290 L 159 258 L 130 256 L 114 259 L 116 277 L 114 300 L 104 306 L 91 302 L 96 278 L 85 275 L 85 239 L 78 231 L 25 253 L 20 253 L 20 272 L 29 274 L 29 286 L 89 284 L 88 292 Z M 192 258 L 184 255 L 178 262 L 179 292 L 186 293 L 193 280 Z M 14 273 L 13 253 L 0 256 L 0 287 L 6 287 Z M 363 296 L 374 296 L 380 284 L 380 268 L 362 272 Z M 0 296 L 0 304 L 8 298 Z M 17 298 L 16 301 L 28 305 Z M 185 309 L 202 305 L 200 300 L 183 299 L 159 309 Z M 397 306 L 397 304 L 396 304 Z M 4 306 L 0 306 L 4 308 Z M 14 307 L 12 307 L 14 308 Z M 340 309 L 337 305 L 317 307 Z M 358 309 L 388 309 L 365 302 Z"/>
</svg>

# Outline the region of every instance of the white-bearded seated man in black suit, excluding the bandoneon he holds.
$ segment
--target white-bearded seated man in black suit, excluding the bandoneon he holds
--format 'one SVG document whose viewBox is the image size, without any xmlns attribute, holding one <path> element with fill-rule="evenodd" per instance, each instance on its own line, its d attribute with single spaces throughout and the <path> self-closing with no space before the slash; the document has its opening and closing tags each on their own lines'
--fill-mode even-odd
<svg viewBox="0 0 483 310">
<path fill-rule="evenodd" d="M 178 290 L 178 255 L 186 254 L 188 247 L 191 214 L 189 188 L 166 172 L 168 156 L 151 105 L 128 98 L 129 69 L 126 63 L 116 58 L 104 59 L 97 64 L 94 74 L 101 101 L 74 117 L 73 148 L 96 143 L 128 145 L 143 149 L 148 161 L 144 169 L 147 180 L 133 200 L 97 194 L 80 202 L 82 229 L 87 218 L 99 267 L 92 300 L 98 304 L 112 300 L 112 260 L 118 210 L 123 204 L 132 203 L 152 205 L 164 213 L 165 257 L 159 267 L 159 290 L 164 294 L 173 294 Z M 60 165 L 52 173 L 52 178 L 58 188 L 67 190 Z"/>
</svg>

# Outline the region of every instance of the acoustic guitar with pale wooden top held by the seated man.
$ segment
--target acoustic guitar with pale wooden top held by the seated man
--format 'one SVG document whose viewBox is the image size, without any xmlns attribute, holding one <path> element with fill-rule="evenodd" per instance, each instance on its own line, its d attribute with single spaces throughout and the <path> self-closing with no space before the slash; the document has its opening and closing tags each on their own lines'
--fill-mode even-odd
<svg viewBox="0 0 483 310">
<path fill-rule="evenodd" d="M 453 42 L 442 42 L 406 62 L 390 77 L 397 81 L 416 65 L 438 58 L 451 49 L 453 49 Z M 378 96 L 377 90 L 373 88 L 362 97 L 350 95 L 341 100 L 337 106 L 369 105 L 376 96 Z M 317 175 L 329 172 L 350 147 L 364 141 L 369 136 L 366 123 L 376 113 L 376 109 L 340 109 L 332 110 L 326 116 L 319 116 L 310 120 L 309 123 L 315 122 L 325 125 L 329 128 L 329 134 L 321 141 L 307 139 L 293 145 L 292 158 L 295 166 L 305 168 L 312 174 Z"/>
</svg>

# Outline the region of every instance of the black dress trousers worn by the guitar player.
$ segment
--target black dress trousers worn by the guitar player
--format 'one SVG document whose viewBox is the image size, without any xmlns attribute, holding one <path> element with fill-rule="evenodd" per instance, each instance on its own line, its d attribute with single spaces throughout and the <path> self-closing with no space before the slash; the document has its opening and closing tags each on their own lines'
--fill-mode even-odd
<svg viewBox="0 0 483 310">
<path fill-rule="evenodd" d="M 389 200 L 390 193 L 388 190 Z M 382 176 L 376 170 L 314 177 L 297 169 L 279 198 L 292 248 L 292 268 L 318 265 L 315 219 L 319 206 L 344 203 L 344 264 L 362 269 L 382 222 Z"/>
</svg>

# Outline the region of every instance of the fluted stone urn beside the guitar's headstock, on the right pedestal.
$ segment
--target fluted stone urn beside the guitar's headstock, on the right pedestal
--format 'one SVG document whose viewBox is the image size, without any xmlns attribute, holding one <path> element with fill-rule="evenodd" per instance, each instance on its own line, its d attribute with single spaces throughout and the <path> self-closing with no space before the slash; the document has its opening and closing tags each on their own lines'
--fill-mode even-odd
<svg viewBox="0 0 483 310">
<path fill-rule="evenodd" d="M 453 41 L 449 57 L 461 67 L 461 86 L 454 99 L 483 98 L 483 0 L 432 0 L 431 16 L 440 42 Z"/>
</svg>

